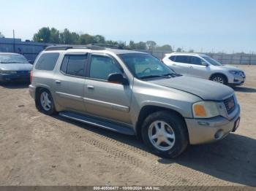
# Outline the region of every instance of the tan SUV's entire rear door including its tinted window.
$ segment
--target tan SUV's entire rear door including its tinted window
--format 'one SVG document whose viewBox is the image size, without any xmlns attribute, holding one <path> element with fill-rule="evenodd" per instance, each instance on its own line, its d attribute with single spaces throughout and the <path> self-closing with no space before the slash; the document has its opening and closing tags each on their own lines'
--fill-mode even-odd
<svg viewBox="0 0 256 191">
<path fill-rule="evenodd" d="M 85 112 L 83 89 L 88 55 L 65 55 L 53 81 L 56 101 L 67 110 Z"/>
</svg>

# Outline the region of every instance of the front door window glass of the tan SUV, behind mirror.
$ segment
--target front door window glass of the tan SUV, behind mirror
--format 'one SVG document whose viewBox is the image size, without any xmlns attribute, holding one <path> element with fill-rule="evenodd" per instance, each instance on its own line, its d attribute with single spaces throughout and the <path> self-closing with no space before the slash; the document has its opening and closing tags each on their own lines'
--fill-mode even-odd
<svg viewBox="0 0 256 191">
<path fill-rule="evenodd" d="M 108 80 L 109 74 L 121 73 L 118 63 L 108 56 L 92 55 L 90 64 L 91 78 Z"/>
</svg>

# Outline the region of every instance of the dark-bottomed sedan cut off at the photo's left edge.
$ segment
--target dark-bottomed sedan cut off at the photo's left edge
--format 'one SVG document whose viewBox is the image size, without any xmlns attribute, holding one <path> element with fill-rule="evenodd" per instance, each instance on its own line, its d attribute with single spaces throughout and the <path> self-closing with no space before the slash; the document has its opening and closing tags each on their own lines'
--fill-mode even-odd
<svg viewBox="0 0 256 191">
<path fill-rule="evenodd" d="M 0 82 L 22 80 L 29 82 L 33 65 L 23 55 L 0 52 Z"/>
</svg>

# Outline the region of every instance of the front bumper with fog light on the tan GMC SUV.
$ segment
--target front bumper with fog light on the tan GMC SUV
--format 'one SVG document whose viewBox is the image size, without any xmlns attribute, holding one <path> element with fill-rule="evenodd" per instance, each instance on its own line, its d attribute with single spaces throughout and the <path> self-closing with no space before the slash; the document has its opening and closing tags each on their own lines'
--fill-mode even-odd
<svg viewBox="0 0 256 191">
<path fill-rule="evenodd" d="M 187 128 L 189 131 L 190 144 L 204 144 L 219 141 L 225 138 L 235 129 L 235 123 L 240 120 L 240 108 L 235 117 L 228 120 L 225 117 L 214 117 L 211 119 L 190 119 L 186 118 Z M 238 128 L 238 126 L 236 127 Z"/>
</svg>

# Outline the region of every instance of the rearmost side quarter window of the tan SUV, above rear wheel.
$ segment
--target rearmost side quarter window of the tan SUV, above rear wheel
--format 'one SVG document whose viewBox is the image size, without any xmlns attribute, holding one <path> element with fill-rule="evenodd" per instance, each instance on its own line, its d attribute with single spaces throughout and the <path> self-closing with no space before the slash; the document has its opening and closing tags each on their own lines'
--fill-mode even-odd
<svg viewBox="0 0 256 191">
<path fill-rule="evenodd" d="M 36 63 L 35 69 L 53 71 L 58 58 L 59 53 L 57 52 L 42 54 Z"/>
</svg>

